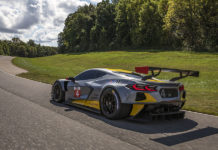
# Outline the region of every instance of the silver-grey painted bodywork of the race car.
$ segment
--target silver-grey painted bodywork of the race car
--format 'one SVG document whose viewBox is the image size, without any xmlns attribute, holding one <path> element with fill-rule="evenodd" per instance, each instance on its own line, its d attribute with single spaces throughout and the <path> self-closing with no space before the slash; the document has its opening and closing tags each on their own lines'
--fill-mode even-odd
<svg viewBox="0 0 218 150">
<path fill-rule="evenodd" d="M 102 91 L 105 88 L 111 87 L 117 91 L 122 103 L 128 103 L 128 104 L 154 103 L 154 102 L 136 101 L 136 95 L 139 91 L 132 90 L 126 87 L 126 85 L 133 85 L 133 84 L 149 84 L 149 85 L 156 85 L 157 91 L 155 92 L 140 91 L 140 92 L 151 95 L 156 100 L 155 103 L 184 102 L 184 100 L 183 101 L 181 100 L 182 93 L 179 92 L 179 86 L 181 85 L 180 83 L 162 81 L 162 80 L 156 80 L 156 79 L 154 79 L 154 81 L 142 81 L 141 79 L 128 77 L 125 75 L 120 75 L 108 69 L 96 68 L 96 69 L 90 69 L 90 70 L 102 71 L 105 73 L 105 75 L 99 78 L 95 78 L 95 79 L 76 80 L 75 82 L 72 82 L 66 79 L 58 80 L 61 83 L 63 91 L 65 91 L 65 101 L 80 100 L 80 99 L 99 101 Z M 79 97 L 75 97 L 75 93 L 74 93 L 75 88 L 80 88 Z M 163 88 L 164 89 L 169 89 L 169 88 L 176 89 L 178 91 L 178 96 L 172 97 L 172 98 L 162 98 L 160 94 L 160 90 Z"/>
</svg>

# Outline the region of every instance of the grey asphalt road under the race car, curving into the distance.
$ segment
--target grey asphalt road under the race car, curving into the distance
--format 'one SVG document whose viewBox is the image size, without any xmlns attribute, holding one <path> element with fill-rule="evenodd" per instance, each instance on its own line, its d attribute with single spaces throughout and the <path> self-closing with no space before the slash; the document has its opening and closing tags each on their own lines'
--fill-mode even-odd
<svg viewBox="0 0 218 150">
<path fill-rule="evenodd" d="M 111 121 L 50 101 L 50 90 L 0 71 L 0 149 L 218 148 L 218 117 L 186 112 L 184 120 Z"/>
</svg>

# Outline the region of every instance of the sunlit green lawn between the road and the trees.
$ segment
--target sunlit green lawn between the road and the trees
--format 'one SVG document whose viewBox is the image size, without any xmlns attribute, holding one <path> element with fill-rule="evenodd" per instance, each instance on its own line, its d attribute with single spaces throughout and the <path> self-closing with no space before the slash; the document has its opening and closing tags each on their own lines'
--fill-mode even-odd
<svg viewBox="0 0 218 150">
<path fill-rule="evenodd" d="M 91 52 L 64 54 L 40 58 L 13 59 L 13 63 L 28 70 L 19 76 L 53 83 L 58 78 L 75 76 L 89 68 L 122 68 L 134 70 L 135 66 L 157 66 L 200 71 L 200 77 L 180 80 L 187 90 L 186 110 L 218 115 L 218 54 L 166 52 Z M 164 73 L 160 78 L 170 78 Z"/>
</svg>

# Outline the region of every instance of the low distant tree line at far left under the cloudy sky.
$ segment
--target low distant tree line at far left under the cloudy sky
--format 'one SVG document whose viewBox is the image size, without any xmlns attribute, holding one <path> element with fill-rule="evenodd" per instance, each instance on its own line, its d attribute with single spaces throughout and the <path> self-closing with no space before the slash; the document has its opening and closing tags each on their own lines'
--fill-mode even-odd
<svg viewBox="0 0 218 150">
<path fill-rule="evenodd" d="M 56 47 L 41 46 L 33 40 L 27 43 L 19 38 L 12 40 L 0 40 L 0 55 L 20 56 L 20 57 L 41 57 L 57 54 Z"/>
</svg>

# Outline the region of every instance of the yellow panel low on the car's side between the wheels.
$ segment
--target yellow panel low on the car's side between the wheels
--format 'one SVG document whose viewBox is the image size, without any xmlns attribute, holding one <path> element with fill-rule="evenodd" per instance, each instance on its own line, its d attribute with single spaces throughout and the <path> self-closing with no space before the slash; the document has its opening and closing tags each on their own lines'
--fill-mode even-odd
<svg viewBox="0 0 218 150">
<path fill-rule="evenodd" d="M 72 103 L 100 110 L 99 101 L 96 101 L 96 100 L 73 100 Z"/>
</svg>

